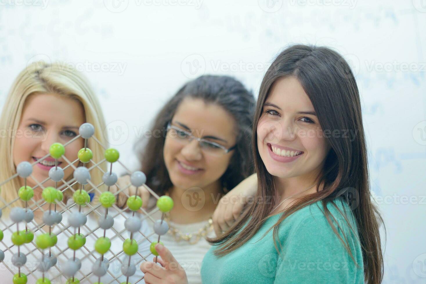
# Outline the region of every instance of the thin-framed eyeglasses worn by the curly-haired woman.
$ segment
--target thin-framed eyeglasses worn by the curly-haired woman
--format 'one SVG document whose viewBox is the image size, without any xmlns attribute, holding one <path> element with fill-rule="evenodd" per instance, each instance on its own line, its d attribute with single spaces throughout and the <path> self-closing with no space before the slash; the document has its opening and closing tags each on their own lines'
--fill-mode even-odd
<svg viewBox="0 0 426 284">
<path fill-rule="evenodd" d="M 199 142 L 201 151 L 213 156 L 222 156 L 236 148 L 236 145 L 227 149 L 223 145 L 218 143 L 208 141 L 204 138 L 198 138 L 193 136 L 188 131 L 183 130 L 182 128 L 178 128 L 175 125 L 172 125 L 170 122 L 167 124 L 167 132 L 171 138 L 176 139 L 176 141 L 182 144 L 189 144 L 193 139 L 196 139 Z"/>
</svg>

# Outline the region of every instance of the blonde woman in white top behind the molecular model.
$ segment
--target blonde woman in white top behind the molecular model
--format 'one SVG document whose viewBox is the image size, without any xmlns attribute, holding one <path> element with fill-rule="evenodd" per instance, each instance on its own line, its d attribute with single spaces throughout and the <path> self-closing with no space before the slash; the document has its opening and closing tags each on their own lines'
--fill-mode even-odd
<svg viewBox="0 0 426 284">
<path fill-rule="evenodd" d="M 3 106 L 0 119 L 0 129 L 3 134 L 2 139 L 0 139 L 0 157 L 2 160 L 0 182 L 14 176 L 17 173 L 16 167 L 21 162 L 33 164 L 49 154 L 49 147 L 53 143 L 66 144 L 70 142 L 78 136 L 79 127 L 85 122 L 94 126 L 94 138 L 98 139 L 104 147 L 107 147 L 107 141 L 102 134 L 105 129 L 104 116 L 92 88 L 80 73 L 72 69 L 63 69 L 61 66 L 63 65 L 59 63 L 29 65 L 14 81 Z M 104 159 L 104 148 L 98 143 L 92 142 L 93 140 L 89 139 L 86 147 L 92 150 L 92 161 L 99 162 Z M 82 280 L 83 283 L 89 280 L 91 283 L 98 281 L 98 277 L 92 273 L 92 267 L 96 258 L 100 257 L 98 253 L 94 252 L 94 243 L 96 239 L 104 236 L 104 230 L 99 228 L 98 225 L 98 217 L 103 216 L 105 211 L 103 207 L 99 207 L 98 196 L 107 189 L 105 185 L 102 185 L 102 176 L 107 171 L 106 162 L 90 171 L 91 183 L 96 188 L 89 185 L 85 187 L 85 190 L 92 194 L 89 204 L 81 207 L 81 211 L 87 215 L 87 222 L 80 227 L 79 233 L 86 236 L 86 244 L 77 250 L 75 255 L 73 255 L 74 251 L 67 249 L 69 236 L 77 233 L 74 228 L 69 227 L 68 217 L 70 213 L 79 210 L 79 206 L 73 206 L 76 204 L 74 204 L 72 194 L 75 190 L 80 189 L 81 185 L 72 179 L 74 168 L 83 166 L 83 163 L 78 160 L 77 153 L 84 146 L 83 138 L 74 139 L 69 145 L 66 145 L 65 154 L 58 159 L 58 167 L 63 168 L 64 176 L 62 182 L 58 182 L 56 186 L 63 192 L 64 198 L 55 206 L 55 209 L 59 212 L 63 211 L 61 222 L 63 225 L 54 224 L 52 228 L 49 228 L 43 222 L 43 212 L 49 209 L 54 210 L 53 206 L 49 207 L 49 204 L 42 199 L 43 188 L 55 186 L 55 182 L 51 179 L 45 181 L 49 178 L 49 170 L 55 167 L 55 165 L 52 166 L 51 157 L 35 163 L 32 175 L 26 180 L 17 176 L 2 186 L 0 209 L 3 216 L 0 218 L 0 229 L 4 233 L 4 238 L 0 246 L 5 254 L 4 260 L 0 263 L 2 283 L 12 283 L 12 277 L 18 273 L 18 270 L 20 270 L 21 275 L 27 275 L 27 283 L 35 283 L 37 279 L 43 278 L 42 272 L 38 270 L 42 254 L 39 250 L 34 249 L 33 244 L 19 246 L 20 253 L 26 257 L 23 267 L 18 269 L 11 262 L 12 255 L 18 252 L 17 246 L 12 244 L 11 235 L 13 232 L 23 229 L 31 230 L 35 238 L 41 233 L 49 232 L 50 229 L 53 234 L 58 236 L 56 246 L 52 247 L 50 251 L 52 255 L 57 257 L 58 263 L 44 273 L 44 279 L 49 279 L 51 283 L 66 281 L 64 275 L 61 275 L 64 269 L 63 265 L 66 262 L 74 261 L 75 257 L 82 263 L 81 268 L 75 274 L 75 279 Z M 67 167 L 67 160 L 75 161 L 73 166 Z M 89 162 L 87 166 L 93 166 L 93 163 Z M 18 196 L 18 189 L 24 185 L 30 186 L 34 190 L 34 196 L 27 204 Z M 26 225 L 23 222 L 14 224 L 9 218 L 10 210 L 13 207 L 31 209 L 34 214 L 32 222 Z M 66 207 L 71 208 L 67 209 Z M 121 246 L 124 239 L 129 237 L 127 231 L 124 230 L 124 221 L 129 215 L 128 213 L 120 214 L 114 207 L 109 209 L 108 214 L 114 216 L 114 229 L 106 230 L 106 236 L 111 239 L 112 246 L 105 257 L 110 259 L 112 258 L 111 252 L 119 253 L 122 250 Z M 38 224 L 42 224 L 42 227 Z M 147 228 L 147 226 L 142 226 L 142 228 Z M 113 230 L 116 230 L 116 232 Z M 126 233 L 117 236 L 116 233 L 122 230 Z M 139 247 L 140 251 L 148 251 L 148 244 L 142 243 Z M 123 253 L 119 257 L 123 259 Z M 111 282 L 115 278 L 119 278 L 117 281 L 126 281 L 126 277 L 121 274 L 120 268 L 121 261 L 114 258 L 114 261 L 110 263 L 109 272 L 102 276 L 102 281 L 109 280 L 108 282 Z M 21 275 L 18 274 L 17 276 L 21 277 Z M 140 278 L 141 273 L 130 277 L 131 281 Z"/>
</svg>

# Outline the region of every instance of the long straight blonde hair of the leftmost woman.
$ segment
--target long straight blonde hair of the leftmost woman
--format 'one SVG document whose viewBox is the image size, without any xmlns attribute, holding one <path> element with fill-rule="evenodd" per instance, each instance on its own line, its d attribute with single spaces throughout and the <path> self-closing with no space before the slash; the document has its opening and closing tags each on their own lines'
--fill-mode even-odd
<svg viewBox="0 0 426 284">
<path fill-rule="evenodd" d="M 17 130 L 20 123 L 26 99 L 32 94 L 54 93 L 81 102 L 84 109 L 85 122 L 89 122 L 95 127 L 93 136 L 98 139 L 104 147 L 108 147 L 107 140 L 103 135 L 103 130 L 106 125 L 98 98 L 95 96 L 89 82 L 80 72 L 72 68 L 64 68 L 63 66 L 65 65 L 62 65 L 60 62 L 49 65 L 43 64 L 43 62 L 37 62 L 28 65 L 17 76 L 9 91 L 0 117 L 0 129 L 8 130 L 10 131 L 9 133 L 15 133 L 14 131 Z M 104 148 L 98 143 L 91 143 L 92 141 L 92 139 L 89 139 L 87 147 L 93 152 L 92 160 L 99 162 L 104 159 Z M 7 135 L 5 138 L 0 139 L 0 157 L 2 157 L 0 163 L 0 182 L 16 174 L 16 166 L 13 161 L 13 145 L 14 135 Z M 105 162 L 99 165 L 99 167 L 104 171 L 107 170 Z M 101 184 L 101 170 L 97 169 L 91 171 L 91 182 L 96 186 Z M 78 185 L 74 187 L 74 189 L 77 189 Z M 6 215 L 10 212 L 12 207 L 23 207 L 24 205 L 24 202 L 18 198 L 19 188 L 20 183 L 18 177 L 10 180 L 1 188 L 0 196 L 6 204 L 17 199 L 16 202 L 13 202 L 10 206 L 3 209 L 3 213 Z M 99 190 L 101 190 L 101 188 L 99 188 Z M 66 202 L 68 197 L 72 195 L 72 192 L 67 188 L 63 193 L 64 202 Z M 98 195 L 96 190 L 94 193 Z M 3 201 L 0 200 L 1 203 L 4 203 Z M 6 204 L 2 204 L 2 207 Z"/>
</svg>

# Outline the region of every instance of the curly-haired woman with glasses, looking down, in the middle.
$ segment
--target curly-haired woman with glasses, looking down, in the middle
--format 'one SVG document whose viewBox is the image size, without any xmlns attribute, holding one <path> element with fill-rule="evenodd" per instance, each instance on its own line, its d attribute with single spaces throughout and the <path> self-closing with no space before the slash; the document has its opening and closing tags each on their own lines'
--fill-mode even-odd
<svg viewBox="0 0 426 284">
<path fill-rule="evenodd" d="M 174 201 L 164 219 L 169 231 L 161 241 L 179 259 L 190 283 L 201 283 L 201 261 L 210 249 L 206 237 L 216 236 L 211 217 L 219 199 L 253 173 L 254 105 L 253 94 L 239 81 L 201 76 L 179 89 L 155 117 L 153 135 L 136 144 L 147 185 Z M 123 177 L 118 185 L 128 180 Z M 135 194 L 135 187 L 126 193 Z M 138 194 L 144 208 L 155 210 L 155 198 L 141 189 Z M 125 196 L 123 191 L 119 205 Z M 159 211 L 153 213 L 157 219 Z"/>
</svg>

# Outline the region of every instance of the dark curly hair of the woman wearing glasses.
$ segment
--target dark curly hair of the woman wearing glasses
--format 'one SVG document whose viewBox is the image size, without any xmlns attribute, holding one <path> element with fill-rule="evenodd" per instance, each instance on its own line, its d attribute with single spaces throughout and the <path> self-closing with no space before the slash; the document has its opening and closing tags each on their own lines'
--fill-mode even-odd
<svg viewBox="0 0 426 284">
<path fill-rule="evenodd" d="M 238 127 L 236 148 L 227 170 L 220 178 L 221 188 L 230 190 L 254 172 L 251 127 L 255 99 L 238 80 L 229 76 L 213 75 L 198 77 L 181 87 L 154 119 L 152 130 L 158 135 L 152 135 L 147 141 L 141 140 L 136 143 L 141 170 L 147 176 L 147 185 L 158 195 L 164 195 L 173 186 L 164 164 L 163 147 L 167 123 L 171 121 L 176 109 L 186 97 L 219 105 L 235 119 L 235 125 Z"/>
</svg>

